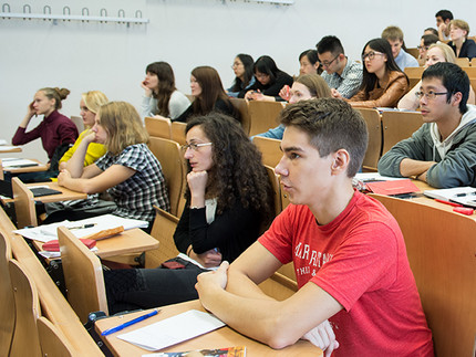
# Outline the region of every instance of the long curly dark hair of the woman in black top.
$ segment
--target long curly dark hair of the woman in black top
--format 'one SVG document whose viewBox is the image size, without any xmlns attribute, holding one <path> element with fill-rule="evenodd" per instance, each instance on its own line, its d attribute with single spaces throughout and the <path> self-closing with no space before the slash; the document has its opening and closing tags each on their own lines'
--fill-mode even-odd
<svg viewBox="0 0 476 357">
<path fill-rule="evenodd" d="M 260 212 L 263 220 L 269 220 L 272 190 L 261 162 L 261 153 L 239 123 L 230 116 L 211 112 L 192 118 L 185 133 L 197 125 L 213 143 L 214 166 L 208 171 L 206 196 L 217 198 L 217 212 L 221 213 L 239 199 L 245 208 L 251 208 Z M 188 187 L 185 195 L 189 199 Z"/>
</svg>

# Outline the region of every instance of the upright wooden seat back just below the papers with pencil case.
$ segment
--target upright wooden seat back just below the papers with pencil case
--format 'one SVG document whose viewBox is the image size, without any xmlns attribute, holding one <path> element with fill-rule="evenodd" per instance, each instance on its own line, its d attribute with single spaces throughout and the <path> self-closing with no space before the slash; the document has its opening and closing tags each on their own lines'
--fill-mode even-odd
<svg viewBox="0 0 476 357">
<path fill-rule="evenodd" d="M 102 311 L 108 314 L 100 259 L 65 227 L 58 229 L 58 240 L 68 301 L 81 322 L 85 324 L 91 312 Z"/>
</svg>

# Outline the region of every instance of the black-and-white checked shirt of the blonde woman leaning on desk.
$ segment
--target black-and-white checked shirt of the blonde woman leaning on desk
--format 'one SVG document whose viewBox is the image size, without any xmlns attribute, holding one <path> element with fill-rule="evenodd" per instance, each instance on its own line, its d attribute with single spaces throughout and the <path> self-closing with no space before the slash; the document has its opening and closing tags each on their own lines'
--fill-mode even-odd
<svg viewBox="0 0 476 357">
<path fill-rule="evenodd" d="M 122 165 L 136 171 L 127 180 L 107 190 L 117 204 L 114 214 L 152 222 L 155 217 L 154 204 L 169 211 L 161 164 L 147 145 L 127 146 L 117 156 L 106 153 L 95 164 L 102 170 L 112 165 Z"/>
</svg>

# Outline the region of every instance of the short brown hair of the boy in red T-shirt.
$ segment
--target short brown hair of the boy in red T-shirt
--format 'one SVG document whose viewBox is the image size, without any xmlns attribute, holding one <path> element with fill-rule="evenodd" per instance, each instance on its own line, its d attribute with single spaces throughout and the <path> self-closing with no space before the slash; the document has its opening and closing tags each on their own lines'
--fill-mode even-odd
<svg viewBox="0 0 476 357">
<path fill-rule="evenodd" d="M 348 177 L 355 176 L 362 166 L 369 134 L 361 114 L 346 102 L 335 98 L 301 101 L 282 109 L 280 118 L 282 125 L 307 133 L 321 157 L 345 149 L 350 155 Z"/>
</svg>

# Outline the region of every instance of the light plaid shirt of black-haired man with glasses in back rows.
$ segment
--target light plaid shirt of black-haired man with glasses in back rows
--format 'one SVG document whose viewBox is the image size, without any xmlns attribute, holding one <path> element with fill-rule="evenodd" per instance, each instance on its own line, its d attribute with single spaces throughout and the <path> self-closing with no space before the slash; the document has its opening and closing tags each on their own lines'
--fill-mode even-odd
<svg viewBox="0 0 476 357">
<path fill-rule="evenodd" d="M 328 82 L 330 88 L 338 90 L 344 98 L 349 99 L 359 91 L 362 84 L 362 63 L 348 59 L 348 63 L 341 75 L 338 73 L 329 74 L 324 71 L 321 76 Z"/>
</svg>

